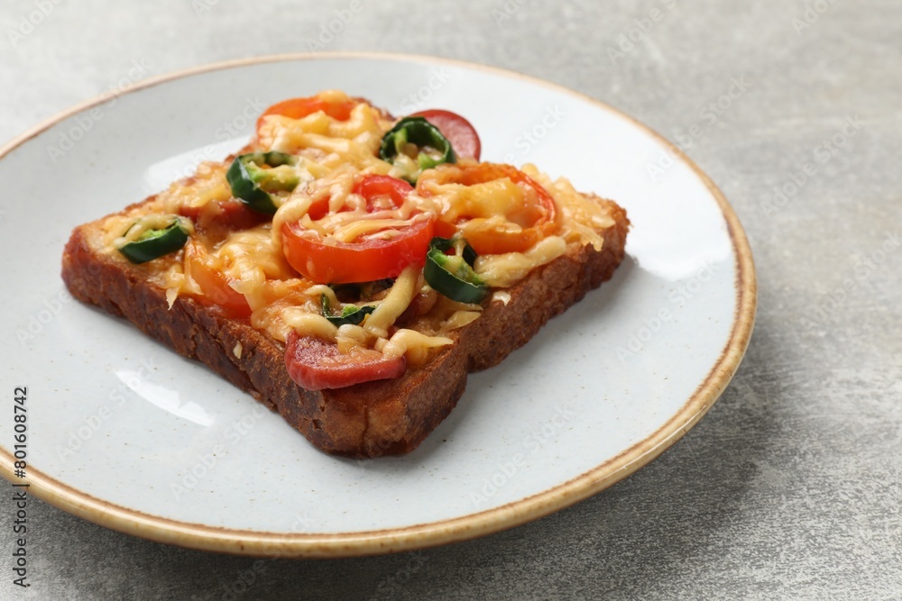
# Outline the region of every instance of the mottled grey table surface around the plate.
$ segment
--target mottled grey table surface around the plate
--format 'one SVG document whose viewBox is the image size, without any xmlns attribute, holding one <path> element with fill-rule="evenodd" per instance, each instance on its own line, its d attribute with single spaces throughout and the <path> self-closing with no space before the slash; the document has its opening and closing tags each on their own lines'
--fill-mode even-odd
<svg viewBox="0 0 902 601">
<path fill-rule="evenodd" d="M 150 76 L 306 51 L 351 4 L 4 0 L 0 141 L 115 86 L 133 61 Z M 757 263 L 758 322 L 732 385 L 675 447 L 602 494 L 427 551 L 255 563 L 35 501 L 27 591 L 12 584 L 0 517 L 0 597 L 902 599 L 902 5 L 360 7 L 325 50 L 510 68 L 680 141 L 732 202 Z"/>
</svg>

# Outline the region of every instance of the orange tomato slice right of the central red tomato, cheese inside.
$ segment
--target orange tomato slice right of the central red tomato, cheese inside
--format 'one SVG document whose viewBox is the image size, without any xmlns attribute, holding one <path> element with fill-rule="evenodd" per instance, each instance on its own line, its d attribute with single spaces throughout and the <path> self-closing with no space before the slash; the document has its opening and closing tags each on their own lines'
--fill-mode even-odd
<svg viewBox="0 0 902 601">
<path fill-rule="evenodd" d="M 463 232 L 466 241 L 481 255 L 523 252 L 557 230 L 557 205 L 548 190 L 520 169 L 495 163 L 436 169 L 431 176 L 419 178 L 417 190 L 419 194 L 429 196 L 430 181 L 476 186 L 503 178 L 526 188 L 525 204 L 515 213 L 505 215 L 519 228 L 499 228 L 497 223 L 467 214 L 457 215 L 451 223 L 439 215 L 436 232 L 443 237 Z"/>
</svg>

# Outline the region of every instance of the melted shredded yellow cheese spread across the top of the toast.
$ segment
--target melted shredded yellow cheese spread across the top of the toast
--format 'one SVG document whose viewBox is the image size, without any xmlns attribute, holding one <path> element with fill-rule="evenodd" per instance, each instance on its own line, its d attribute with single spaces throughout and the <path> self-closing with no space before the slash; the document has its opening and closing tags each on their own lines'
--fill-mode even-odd
<svg viewBox="0 0 902 601">
<path fill-rule="evenodd" d="M 334 102 L 349 100 L 336 90 L 319 96 Z M 422 327 L 418 326 L 420 331 L 395 330 L 395 323 L 415 297 L 423 291 L 431 292 L 422 269 L 409 266 L 382 300 L 368 301 L 367 304 L 376 308 L 363 323 L 336 327 L 320 314 L 322 295 L 327 296 L 335 310 L 341 307 L 335 290 L 299 278 L 284 258 L 281 231 L 287 223 L 300 223 L 310 235 L 327 236 L 327 240 L 352 242 L 391 239 L 411 224 L 433 219 L 437 214 L 442 214 L 448 223 L 465 215 L 468 223 L 507 232 L 519 232 L 524 227 L 521 222 L 528 222 L 523 217 L 523 207 L 532 202 L 529 195 L 534 195 L 534 190 L 508 178 L 474 186 L 456 184 L 446 178 L 447 173 L 457 168 L 454 166 L 425 171 L 420 176 L 420 186 L 400 207 L 386 204 L 380 210 L 368 211 L 364 198 L 353 192 L 362 173 L 400 178 L 419 170 L 413 161 L 405 166 L 405 157 L 400 157 L 395 165 L 378 158 L 382 136 L 392 125 L 393 122 L 365 103 L 355 105 L 346 121 L 337 121 L 322 112 L 301 119 L 283 115 L 263 118 L 249 151 L 281 150 L 298 157 L 292 169 L 298 175 L 299 185 L 291 192 L 272 195 L 278 207 L 272 223 L 242 232 L 226 232 L 220 238 L 207 238 L 213 234 L 203 231 L 192 235 L 192 243 L 205 246 L 209 264 L 221 271 L 228 286 L 244 295 L 252 310 L 253 327 L 269 332 L 280 341 L 285 341 L 294 330 L 300 335 L 334 341 L 343 353 L 374 349 L 386 357 L 404 356 L 415 364 L 426 360 L 431 349 L 452 343 L 442 334 L 474 323 L 480 317 L 480 305 L 462 305 L 442 296 L 428 305 L 429 319 Z M 464 159 L 460 165 L 472 162 Z M 228 162 L 202 163 L 191 178 L 173 184 L 143 205 L 107 218 L 104 235 L 109 251 L 136 239 L 148 228 L 171 223 L 174 214 L 193 214 L 191 211 L 207 203 L 230 200 L 228 167 Z M 554 198 L 561 216 L 560 227 L 557 235 L 538 241 L 524 252 L 478 258 L 474 269 L 494 288 L 492 303 L 507 305 L 511 296 L 505 288 L 527 277 L 533 269 L 557 259 L 566 252 L 568 244 L 591 244 L 595 250 L 601 250 L 600 232 L 613 223 L 603 205 L 577 193 L 566 179 L 553 181 L 531 165 L 522 170 Z M 308 214 L 311 206 L 321 202 L 327 202 L 327 214 L 311 219 Z M 186 210 L 189 212 L 182 213 Z M 136 221 L 138 225 L 133 226 Z M 124 235 L 126 230 L 128 233 Z M 146 268 L 150 277 L 166 288 L 170 306 L 179 295 L 203 295 L 185 267 L 184 254 L 174 253 L 169 265 L 155 261 L 154 266 Z M 241 345 L 236 345 L 235 356 L 240 359 L 242 352 Z"/>
</svg>

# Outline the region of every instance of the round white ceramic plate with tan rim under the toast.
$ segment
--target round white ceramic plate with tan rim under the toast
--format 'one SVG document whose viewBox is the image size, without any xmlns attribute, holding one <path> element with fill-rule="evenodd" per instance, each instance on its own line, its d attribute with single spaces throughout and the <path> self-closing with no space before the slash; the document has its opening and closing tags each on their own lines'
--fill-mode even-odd
<svg viewBox="0 0 902 601">
<path fill-rule="evenodd" d="M 225 157 L 266 105 L 324 88 L 394 114 L 464 114 L 483 159 L 565 175 L 616 199 L 633 223 L 612 281 L 472 376 L 453 414 L 405 457 L 315 450 L 204 366 L 72 301 L 60 280 L 75 225 Z M 199 68 L 75 107 L 0 157 L 0 469 L 66 511 L 161 542 L 355 555 L 549 514 L 686 433 L 732 377 L 754 319 L 748 242 L 698 168 L 606 105 L 493 68 L 346 54 Z M 665 167 L 652 177 L 649 164 Z M 13 472 L 14 387 L 27 387 L 25 480 Z"/>
</svg>

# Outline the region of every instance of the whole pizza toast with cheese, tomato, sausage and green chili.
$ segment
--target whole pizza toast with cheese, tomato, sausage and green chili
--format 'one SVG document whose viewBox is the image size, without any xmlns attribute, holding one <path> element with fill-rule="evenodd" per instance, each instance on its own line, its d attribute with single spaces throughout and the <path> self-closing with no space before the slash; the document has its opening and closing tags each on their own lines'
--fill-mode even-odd
<svg viewBox="0 0 902 601">
<path fill-rule="evenodd" d="M 619 205 L 481 150 L 450 111 L 395 119 L 339 91 L 286 100 L 235 156 L 78 226 L 62 275 L 319 449 L 408 452 L 468 372 L 623 257 Z"/>
</svg>

